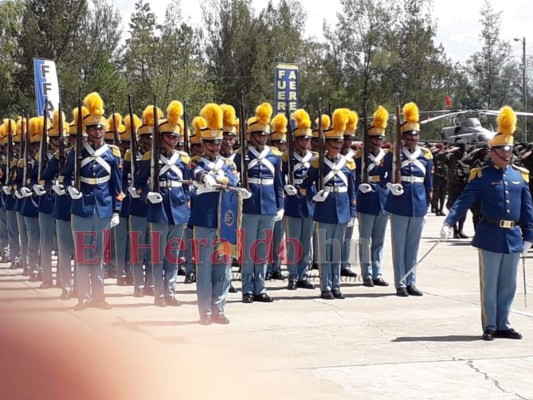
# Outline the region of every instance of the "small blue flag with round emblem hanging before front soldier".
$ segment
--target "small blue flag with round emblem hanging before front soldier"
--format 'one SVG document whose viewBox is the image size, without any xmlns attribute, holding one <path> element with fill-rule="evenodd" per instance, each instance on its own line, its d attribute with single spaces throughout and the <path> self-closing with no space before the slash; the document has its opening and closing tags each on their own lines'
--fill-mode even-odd
<svg viewBox="0 0 533 400">
<path fill-rule="evenodd" d="M 218 202 L 217 237 L 237 245 L 242 222 L 242 194 L 236 190 L 221 190 Z"/>
</svg>

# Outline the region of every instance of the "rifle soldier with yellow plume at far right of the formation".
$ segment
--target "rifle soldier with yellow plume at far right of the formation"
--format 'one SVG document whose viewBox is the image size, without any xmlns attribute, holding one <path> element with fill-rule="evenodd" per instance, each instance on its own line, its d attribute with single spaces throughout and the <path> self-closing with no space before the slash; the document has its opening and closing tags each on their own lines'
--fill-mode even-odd
<svg viewBox="0 0 533 400">
<path fill-rule="evenodd" d="M 407 297 L 422 296 L 415 286 L 416 271 L 412 268 L 417 262 L 424 217 L 431 203 L 433 155 L 429 149 L 418 146 L 420 125 L 417 105 L 405 104 L 403 114 L 405 122 L 401 125 L 401 132 L 405 144 L 400 149 L 401 183 L 388 184 L 390 193 L 385 210 L 389 212 L 391 221 L 396 295 Z"/>
</svg>

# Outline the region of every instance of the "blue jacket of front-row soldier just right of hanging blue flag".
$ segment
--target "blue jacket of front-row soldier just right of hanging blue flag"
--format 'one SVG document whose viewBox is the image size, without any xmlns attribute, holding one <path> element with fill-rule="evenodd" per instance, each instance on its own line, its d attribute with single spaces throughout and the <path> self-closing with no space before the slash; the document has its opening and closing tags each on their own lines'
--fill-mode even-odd
<svg viewBox="0 0 533 400">
<path fill-rule="evenodd" d="M 281 155 L 275 147 L 265 146 L 261 154 L 252 146 L 248 148 L 248 189 L 252 197 L 243 201 L 244 214 L 276 215 L 283 208 Z M 234 161 L 242 174 L 240 153 L 235 155 Z M 266 179 L 270 183 L 253 183 L 256 179 Z"/>
</svg>

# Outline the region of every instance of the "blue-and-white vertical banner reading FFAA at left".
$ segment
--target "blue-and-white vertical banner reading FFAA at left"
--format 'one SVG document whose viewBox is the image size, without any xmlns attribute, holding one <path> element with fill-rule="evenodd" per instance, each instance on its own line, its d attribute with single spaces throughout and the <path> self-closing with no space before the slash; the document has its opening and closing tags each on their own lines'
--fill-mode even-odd
<svg viewBox="0 0 533 400">
<path fill-rule="evenodd" d="M 33 71 L 35 76 L 37 115 L 43 115 L 46 110 L 48 118 L 52 118 L 54 110 L 59 106 L 59 84 L 57 83 L 56 63 L 52 60 L 34 58 Z"/>
</svg>

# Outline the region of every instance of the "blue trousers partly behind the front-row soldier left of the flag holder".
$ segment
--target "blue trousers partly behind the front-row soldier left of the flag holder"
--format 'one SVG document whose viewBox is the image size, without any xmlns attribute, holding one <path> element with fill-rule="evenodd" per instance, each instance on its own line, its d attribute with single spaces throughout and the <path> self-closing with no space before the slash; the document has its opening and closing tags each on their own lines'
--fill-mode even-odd
<svg viewBox="0 0 533 400">
<path fill-rule="evenodd" d="M 135 245 L 133 245 L 134 241 Z M 133 284 L 136 288 L 154 286 L 152 252 L 147 247 L 151 246 L 151 243 L 150 226 L 146 217 L 130 215 L 130 263 L 133 267 Z M 133 251 L 137 253 L 135 257 Z M 145 271 L 143 271 L 143 265 Z"/>
</svg>

